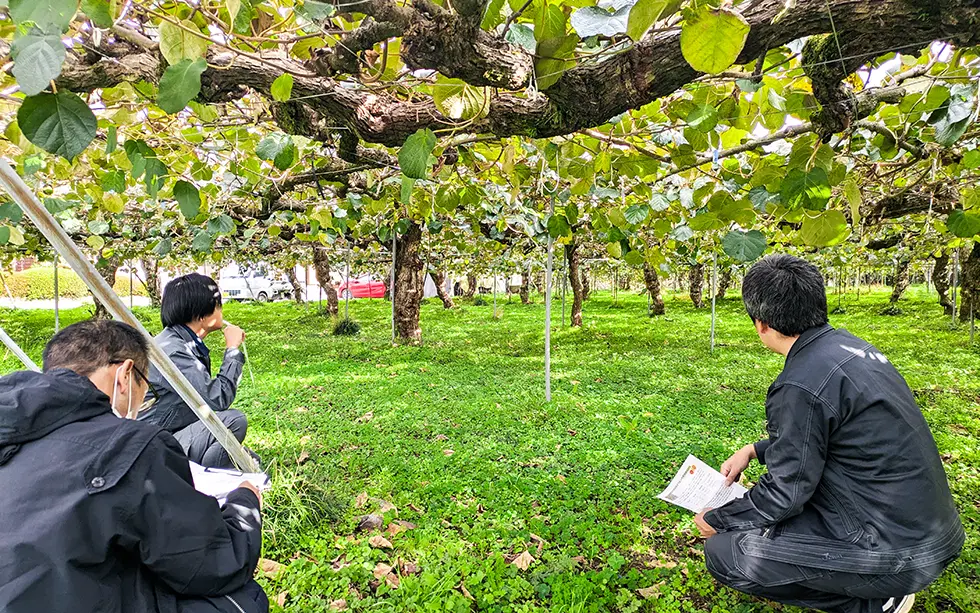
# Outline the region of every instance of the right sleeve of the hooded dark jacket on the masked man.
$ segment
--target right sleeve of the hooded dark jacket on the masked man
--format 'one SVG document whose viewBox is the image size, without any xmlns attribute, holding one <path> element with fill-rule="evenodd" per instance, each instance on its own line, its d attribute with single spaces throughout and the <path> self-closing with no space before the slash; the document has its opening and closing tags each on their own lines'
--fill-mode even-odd
<svg viewBox="0 0 980 613">
<path fill-rule="evenodd" d="M 259 500 L 232 491 L 225 505 L 194 489 L 187 457 L 161 433 L 134 466 L 142 479 L 128 542 L 154 576 L 178 594 L 220 596 L 251 578 L 262 549 Z"/>
</svg>

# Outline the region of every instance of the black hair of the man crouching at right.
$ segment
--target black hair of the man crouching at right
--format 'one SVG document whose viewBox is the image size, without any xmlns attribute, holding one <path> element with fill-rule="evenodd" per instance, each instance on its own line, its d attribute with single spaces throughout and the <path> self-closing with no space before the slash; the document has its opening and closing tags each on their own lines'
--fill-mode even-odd
<svg viewBox="0 0 980 613">
<path fill-rule="evenodd" d="M 742 281 L 742 301 L 754 321 L 785 336 L 827 323 L 827 289 L 820 270 L 791 255 L 770 255 Z"/>
</svg>

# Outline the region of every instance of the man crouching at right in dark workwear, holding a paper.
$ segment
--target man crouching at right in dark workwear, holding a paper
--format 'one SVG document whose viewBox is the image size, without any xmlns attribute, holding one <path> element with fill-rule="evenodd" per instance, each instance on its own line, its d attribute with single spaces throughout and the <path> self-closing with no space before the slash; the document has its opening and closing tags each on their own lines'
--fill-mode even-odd
<svg viewBox="0 0 980 613">
<path fill-rule="evenodd" d="M 769 438 L 721 468 L 768 472 L 695 518 L 708 571 L 736 590 L 830 613 L 907 613 L 963 547 L 939 451 L 915 398 L 870 343 L 828 324 L 820 271 L 769 256 L 745 275 L 759 338 L 786 356 Z"/>
</svg>

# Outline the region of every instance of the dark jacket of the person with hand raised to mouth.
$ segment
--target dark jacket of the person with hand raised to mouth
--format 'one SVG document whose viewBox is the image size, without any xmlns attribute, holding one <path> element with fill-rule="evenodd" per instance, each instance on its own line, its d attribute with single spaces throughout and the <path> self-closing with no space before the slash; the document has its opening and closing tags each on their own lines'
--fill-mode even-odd
<svg viewBox="0 0 980 613">
<path fill-rule="evenodd" d="M 231 407 L 238 393 L 245 354 L 238 349 L 227 349 L 218 376 L 212 379 L 211 356 L 201 349 L 201 340 L 189 328 L 171 326 L 158 334 L 156 341 L 211 406 L 211 410 L 225 411 Z M 148 421 L 167 432 L 182 430 L 198 421 L 197 414 L 181 399 L 156 366 L 150 367 L 149 377 L 160 400 L 140 414 L 140 421 Z"/>
</svg>

